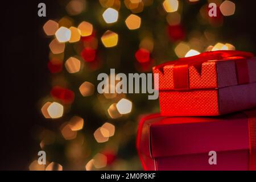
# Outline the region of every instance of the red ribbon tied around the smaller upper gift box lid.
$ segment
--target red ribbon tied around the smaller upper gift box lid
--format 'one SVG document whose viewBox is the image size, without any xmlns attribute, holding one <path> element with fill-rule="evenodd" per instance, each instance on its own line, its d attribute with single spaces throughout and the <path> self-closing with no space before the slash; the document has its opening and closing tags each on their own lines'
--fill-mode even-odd
<svg viewBox="0 0 256 182">
<path fill-rule="evenodd" d="M 245 59 L 253 56 L 253 53 L 243 51 L 209 51 L 200 53 L 200 55 L 196 56 L 184 57 L 175 61 L 168 61 L 167 63 L 156 66 L 155 69 L 159 69 L 159 71 L 163 73 L 163 68 L 166 65 L 173 64 L 174 88 L 176 90 L 187 90 L 189 89 L 189 67 L 193 66 L 197 68 L 197 70 L 200 70 L 201 65 L 205 61 L 236 59 L 238 83 L 245 84 L 246 82 L 249 82 L 247 61 L 245 61 Z"/>
</svg>

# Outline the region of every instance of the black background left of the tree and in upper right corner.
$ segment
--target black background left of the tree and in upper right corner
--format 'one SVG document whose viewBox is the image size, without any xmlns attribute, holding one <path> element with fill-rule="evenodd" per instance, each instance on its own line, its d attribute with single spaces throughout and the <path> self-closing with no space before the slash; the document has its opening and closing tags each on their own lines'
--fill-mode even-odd
<svg viewBox="0 0 256 182">
<path fill-rule="evenodd" d="M 48 17 L 59 10 L 53 0 L 8 2 L 1 5 L 0 169 L 27 170 L 38 145 L 31 129 L 43 122 L 36 102 L 49 90 L 48 40 L 42 32 L 47 18 L 38 17 L 38 3 L 46 3 Z M 253 46 L 243 45 L 242 51 L 256 53 L 255 2 L 237 1 L 236 6 L 242 11 L 225 23 L 222 35 L 227 42 L 246 37 Z"/>
</svg>

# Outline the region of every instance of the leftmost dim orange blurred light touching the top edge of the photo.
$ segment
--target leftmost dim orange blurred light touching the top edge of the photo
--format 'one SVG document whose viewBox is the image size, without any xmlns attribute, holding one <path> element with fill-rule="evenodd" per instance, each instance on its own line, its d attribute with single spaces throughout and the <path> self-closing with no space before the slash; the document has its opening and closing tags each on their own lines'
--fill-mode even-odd
<svg viewBox="0 0 256 182">
<path fill-rule="evenodd" d="M 78 15 L 85 10 L 85 0 L 72 0 L 66 6 L 69 15 Z"/>
</svg>

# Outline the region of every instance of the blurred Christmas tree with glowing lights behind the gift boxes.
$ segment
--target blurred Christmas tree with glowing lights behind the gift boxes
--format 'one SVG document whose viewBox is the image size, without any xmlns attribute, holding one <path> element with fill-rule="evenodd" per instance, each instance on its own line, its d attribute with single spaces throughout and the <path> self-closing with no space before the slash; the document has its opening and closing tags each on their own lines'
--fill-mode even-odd
<svg viewBox="0 0 256 182">
<path fill-rule="evenodd" d="M 217 5 L 216 17 L 208 15 L 210 2 Z M 71 0 L 59 1 L 59 6 L 59 19 L 43 25 L 51 39 L 52 89 L 39 102 L 46 124 L 34 132 L 46 151 L 46 166 L 142 169 L 135 149 L 138 121 L 141 114 L 158 112 L 158 101 L 148 100 L 147 94 L 98 94 L 98 74 L 109 75 L 110 68 L 115 73 L 151 72 L 167 60 L 234 49 L 218 40 L 225 41 L 220 37 L 224 16 L 234 14 L 235 4 Z M 38 168 L 31 163 L 30 169 Z"/>
</svg>

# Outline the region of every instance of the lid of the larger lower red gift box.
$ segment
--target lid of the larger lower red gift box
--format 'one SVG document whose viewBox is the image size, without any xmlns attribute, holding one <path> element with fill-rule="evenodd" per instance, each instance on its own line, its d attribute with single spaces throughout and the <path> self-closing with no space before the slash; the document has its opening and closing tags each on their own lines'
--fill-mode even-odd
<svg viewBox="0 0 256 182">
<path fill-rule="evenodd" d="M 244 113 L 222 117 L 161 117 L 152 114 L 139 123 L 137 148 L 139 154 L 160 158 L 212 150 L 249 150 L 249 140 L 249 122 Z"/>
</svg>

